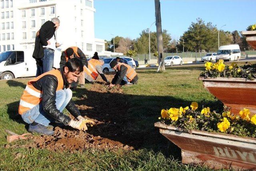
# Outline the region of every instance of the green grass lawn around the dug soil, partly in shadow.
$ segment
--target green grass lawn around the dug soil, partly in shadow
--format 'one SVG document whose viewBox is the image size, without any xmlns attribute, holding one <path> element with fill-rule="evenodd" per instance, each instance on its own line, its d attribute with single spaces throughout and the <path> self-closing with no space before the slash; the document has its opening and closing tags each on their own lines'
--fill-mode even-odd
<svg viewBox="0 0 256 171">
<path fill-rule="evenodd" d="M 184 165 L 180 149 L 170 143 L 154 128 L 162 108 L 189 106 L 192 101 L 207 104 L 212 110 L 221 110 L 221 103 L 207 92 L 198 75 L 203 67 L 168 68 L 164 73 L 156 69 L 137 70 L 139 83 L 123 87 L 132 125 L 127 132 L 143 135 L 140 148 L 133 151 L 100 151 L 87 149 L 80 152 L 48 151 L 46 149 L 5 148 L 5 129 L 18 134 L 26 133 L 26 126 L 17 115 L 20 96 L 29 79 L 0 81 L 0 170 L 122 170 L 122 171 L 207 171 L 206 167 Z M 93 85 L 86 85 L 90 88 Z M 74 93 L 79 100 L 82 91 Z M 111 100 L 111 99 L 109 99 Z M 117 105 L 122 106 L 122 104 Z"/>
</svg>

